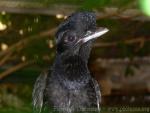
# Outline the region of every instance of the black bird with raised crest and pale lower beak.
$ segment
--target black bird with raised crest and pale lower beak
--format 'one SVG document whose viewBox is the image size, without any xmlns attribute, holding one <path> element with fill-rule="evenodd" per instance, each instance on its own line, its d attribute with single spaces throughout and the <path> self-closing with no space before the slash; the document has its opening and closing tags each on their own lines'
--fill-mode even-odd
<svg viewBox="0 0 150 113">
<path fill-rule="evenodd" d="M 107 31 L 97 28 L 93 12 L 73 13 L 60 24 L 52 72 L 41 74 L 34 85 L 35 111 L 41 112 L 44 106 L 64 113 L 100 110 L 99 85 L 90 75 L 87 63 L 93 41 Z"/>
</svg>

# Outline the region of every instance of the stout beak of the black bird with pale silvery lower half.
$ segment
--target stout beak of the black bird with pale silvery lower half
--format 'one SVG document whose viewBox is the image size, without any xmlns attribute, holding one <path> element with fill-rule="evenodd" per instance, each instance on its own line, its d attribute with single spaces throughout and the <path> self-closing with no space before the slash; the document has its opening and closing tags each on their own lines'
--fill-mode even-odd
<svg viewBox="0 0 150 113">
<path fill-rule="evenodd" d="M 80 39 L 79 41 L 81 41 L 82 43 L 86 43 L 90 40 L 96 39 L 100 36 L 102 36 L 103 34 L 107 33 L 109 30 L 107 28 L 98 28 L 96 31 L 92 32 L 92 31 L 88 31 L 87 34 L 85 35 L 84 38 Z"/>
</svg>

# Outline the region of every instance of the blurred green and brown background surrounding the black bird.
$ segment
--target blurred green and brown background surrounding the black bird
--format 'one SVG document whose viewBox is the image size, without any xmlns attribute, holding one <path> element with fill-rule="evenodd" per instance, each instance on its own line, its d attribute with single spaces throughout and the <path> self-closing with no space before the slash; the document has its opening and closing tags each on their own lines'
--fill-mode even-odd
<svg viewBox="0 0 150 113">
<path fill-rule="evenodd" d="M 55 31 L 75 11 L 94 11 L 110 30 L 89 61 L 101 113 L 150 112 L 150 0 L 0 0 L 0 113 L 32 113 L 33 84 L 55 57 Z"/>
</svg>

